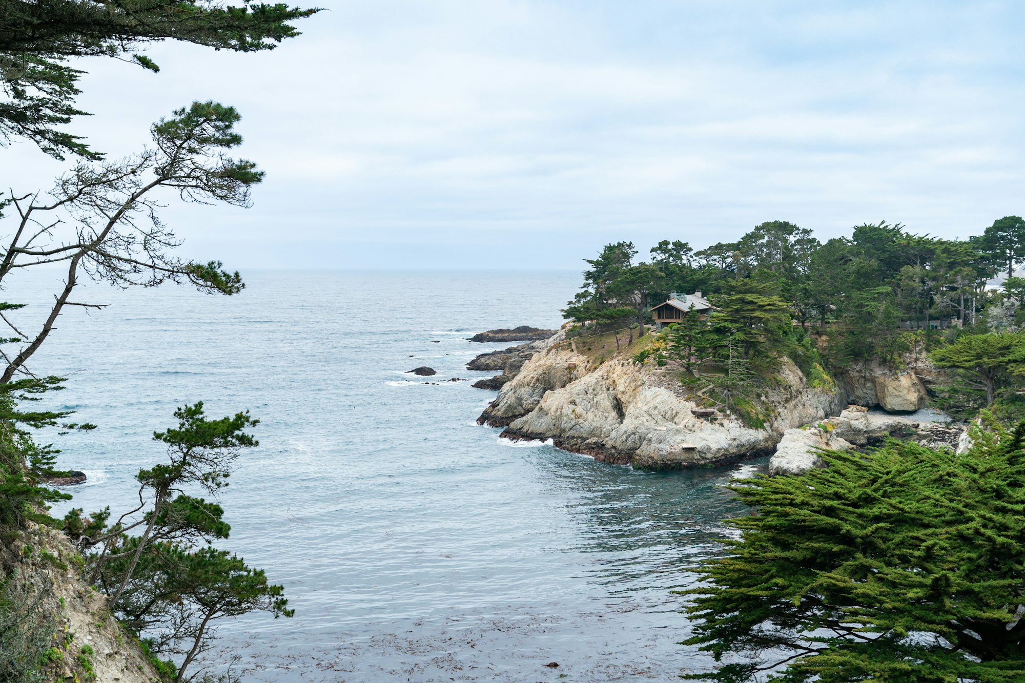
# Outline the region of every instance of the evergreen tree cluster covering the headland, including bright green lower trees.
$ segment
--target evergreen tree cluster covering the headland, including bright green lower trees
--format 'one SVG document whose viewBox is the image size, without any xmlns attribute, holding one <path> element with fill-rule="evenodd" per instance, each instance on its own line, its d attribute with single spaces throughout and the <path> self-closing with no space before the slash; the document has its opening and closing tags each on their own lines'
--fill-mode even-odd
<svg viewBox="0 0 1025 683">
<path fill-rule="evenodd" d="M 674 361 L 685 384 L 703 377 L 701 396 L 756 394 L 783 357 L 828 386 L 830 371 L 869 361 L 900 365 L 921 351 L 948 370 L 938 403 L 967 416 L 1025 387 L 1018 360 L 1025 278 L 1014 276 L 1025 263 L 1025 220 L 1004 216 L 980 232 L 949 240 L 880 222 L 822 243 L 810 230 L 772 220 L 700 250 L 663 240 L 645 262 L 632 243 L 619 242 L 586 262 L 583 286 L 564 314 L 578 333 L 626 328 L 632 340 L 670 292 L 701 291 L 712 310 L 688 314 L 637 356 Z M 709 394 L 716 383 L 724 387 Z"/>
</svg>

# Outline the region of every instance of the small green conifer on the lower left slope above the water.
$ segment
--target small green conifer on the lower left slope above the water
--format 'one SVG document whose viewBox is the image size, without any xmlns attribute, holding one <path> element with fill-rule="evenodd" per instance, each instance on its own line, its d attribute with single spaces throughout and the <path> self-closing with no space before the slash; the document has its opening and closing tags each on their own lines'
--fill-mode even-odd
<svg viewBox="0 0 1025 683">
<path fill-rule="evenodd" d="M 245 432 L 258 420 L 248 412 L 208 419 L 202 403 L 180 407 L 174 416 L 176 427 L 154 433 L 167 446 L 167 461 L 136 476 L 142 505 L 113 524 L 109 508 L 89 517 L 74 509 L 64 528 L 85 552 L 95 587 L 109 596 L 120 622 L 142 637 L 158 670 L 187 680 L 184 672 L 207 648 L 217 619 L 253 610 L 291 616 L 292 610 L 284 589 L 261 570 L 210 546 L 231 531 L 220 505 L 183 490 L 199 487 L 216 496 L 241 449 L 258 444 Z M 141 533 L 131 535 L 132 529 Z"/>
</svg>

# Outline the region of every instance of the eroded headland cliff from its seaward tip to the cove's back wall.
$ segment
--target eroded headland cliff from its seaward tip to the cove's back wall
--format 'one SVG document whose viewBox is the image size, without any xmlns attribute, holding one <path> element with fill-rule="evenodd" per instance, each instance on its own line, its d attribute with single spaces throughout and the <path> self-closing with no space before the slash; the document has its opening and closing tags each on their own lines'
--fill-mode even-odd
<svg viewBox="0 0 1025 683">
<path fill-rule="evenodd" d="M 633 362 L 625 352 L 581 353 L 557 333 L 524 363 L 478 419 L 514 439 L 552 439 L 599 460 L 661 470 L 722 465 L 772 452 L 786 430 L 839 415 L 849 403 L 895 412 L 924 407 L 928 390 L 913 368 L 851 368 L 812 386 L 790 360 L 763 390 L 763 427 L 699 406 L 680 369 Z"/>
</svg>

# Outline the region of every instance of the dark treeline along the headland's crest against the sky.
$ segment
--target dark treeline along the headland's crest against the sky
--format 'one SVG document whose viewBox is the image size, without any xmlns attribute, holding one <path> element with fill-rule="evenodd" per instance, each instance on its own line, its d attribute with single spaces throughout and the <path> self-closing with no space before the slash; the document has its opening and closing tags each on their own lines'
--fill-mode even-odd
<svg viewBox="0 0 1025 683">
<path fill-rule="evenodd" d="M 673 291 L 701 291 L 721 310 L 740 305 L 738 314 L 783 304 L 775 320 L 733 322 L 765 328 L 785 317 L 802 327 L 829 329 L 835 337 L 832 360 L 839 363 L 892 358 L 906 346 L 901 327 L 1017 331 L 1025 319 L 1019 311 L 1025 278 L 1014 277 L 1025 260 L 1025 220 L 1019 216 L 994 220 L 963 240 L 877 223 L 825 243 L 811 230 L 771 220 L 736 242 L 695 250 L 687 242 L 662 240 L 648 259 L 637 256 L 632 243 L 618 242 L 587 259 L 583 287 L 565 310 L 567 317 L 640 326 L 650 319 L 648 309 Z M 1007 276 L 1002 288 L 987 288 L 999 273 Z M 755 346 L 745 346 L 747 355 Z"/>
</svg>

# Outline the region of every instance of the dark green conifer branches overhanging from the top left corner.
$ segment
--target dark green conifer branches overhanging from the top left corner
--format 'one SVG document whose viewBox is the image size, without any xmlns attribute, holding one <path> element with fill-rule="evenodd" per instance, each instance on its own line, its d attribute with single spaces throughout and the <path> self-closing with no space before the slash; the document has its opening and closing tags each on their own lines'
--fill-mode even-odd
<svg viewBox="0 0 1025 683">
<path fill-rule="evenodd" d="M 0 142 L 24 137 L 58 159 L 67 153 L 98 159 L 81 136 L 58 129 L 86 114 L 75 106 L 84 72 L 69 67 L 69 58 L 130 59 L 156 73 L 159 67 L 141 54 L 151 43 L 172 39 L 240 52 L 273 49 L 299 35 L 290 22 L 317 11 L 204 0 L 5 0 L 0 8 Z"/>
</svg>

